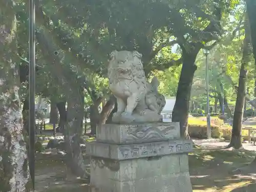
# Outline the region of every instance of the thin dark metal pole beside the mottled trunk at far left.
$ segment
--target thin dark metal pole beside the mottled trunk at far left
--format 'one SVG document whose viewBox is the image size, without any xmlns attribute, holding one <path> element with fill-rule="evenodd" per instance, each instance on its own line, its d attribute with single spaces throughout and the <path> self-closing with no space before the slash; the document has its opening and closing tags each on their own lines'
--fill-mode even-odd
<svg viewBox="0 0 256 192">
<path fill-rule="evenodd" d="M 29 0 L 29 170 L 35 189 L 35 4 Z"/>
</svg>

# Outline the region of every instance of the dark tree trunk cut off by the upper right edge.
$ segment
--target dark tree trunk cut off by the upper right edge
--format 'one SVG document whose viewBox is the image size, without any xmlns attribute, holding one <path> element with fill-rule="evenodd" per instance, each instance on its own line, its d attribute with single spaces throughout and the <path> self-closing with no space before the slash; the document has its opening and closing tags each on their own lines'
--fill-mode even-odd
<svg viewBox="0 0 256 192">
<path fill-rule="evenodd" d="M 251 34 L 251 44 L 253 49 L 253 57 L 255 62 L 255 69 L 256 69 L 256 2 L 254 0 L 247 0 L 247 14 L 249 19 L 249 25 L 250 25 L 250 34 Z M 253 163 L 256 163 L 256 157 L 253 161 Z"/>
</svg>

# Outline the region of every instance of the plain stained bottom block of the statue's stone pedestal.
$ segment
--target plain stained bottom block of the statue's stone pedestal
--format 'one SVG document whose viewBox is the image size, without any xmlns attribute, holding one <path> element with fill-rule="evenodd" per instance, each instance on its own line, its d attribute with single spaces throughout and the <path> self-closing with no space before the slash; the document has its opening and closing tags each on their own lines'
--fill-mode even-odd
<svg viewBox="0 0 256 192">
<path fill-rule="evenodd" d="M 97 192 L 191 192 L 188 172 L 180 173 L 182 154 L 152 160 L 108 162 L 91 160 L 91 191 Z M 111 165 L 112 163 L 112 165 Z"/>
</svg>

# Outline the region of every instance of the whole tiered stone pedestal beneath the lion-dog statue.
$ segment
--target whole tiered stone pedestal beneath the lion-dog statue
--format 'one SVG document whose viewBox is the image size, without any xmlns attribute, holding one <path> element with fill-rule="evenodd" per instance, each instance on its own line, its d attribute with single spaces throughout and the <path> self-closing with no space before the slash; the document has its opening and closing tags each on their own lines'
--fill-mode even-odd
<svg viewBox="0 0 256 192">
<path fill-rule="evenodd" d="M 192 192 L 188 172 L 190 140 L 179 123 L 106 124 L 91 155 L 91 192 Z"/>
</svg>

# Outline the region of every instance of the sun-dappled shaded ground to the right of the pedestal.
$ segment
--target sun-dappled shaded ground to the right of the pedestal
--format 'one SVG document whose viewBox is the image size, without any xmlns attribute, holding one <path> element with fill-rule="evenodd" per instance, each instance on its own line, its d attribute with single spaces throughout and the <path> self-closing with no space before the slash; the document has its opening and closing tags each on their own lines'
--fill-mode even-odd
<svg viewBox="0 0 256 192">
<path fill-rule="evenodd" d="M 189 155 L 193 191 L 231 192 L 254 182 L 249 172 L 237 172 L 238 167 L 248 165 L 254 156 L 254 152 L 246 150 L 195 150 Z"/>
</svg>

